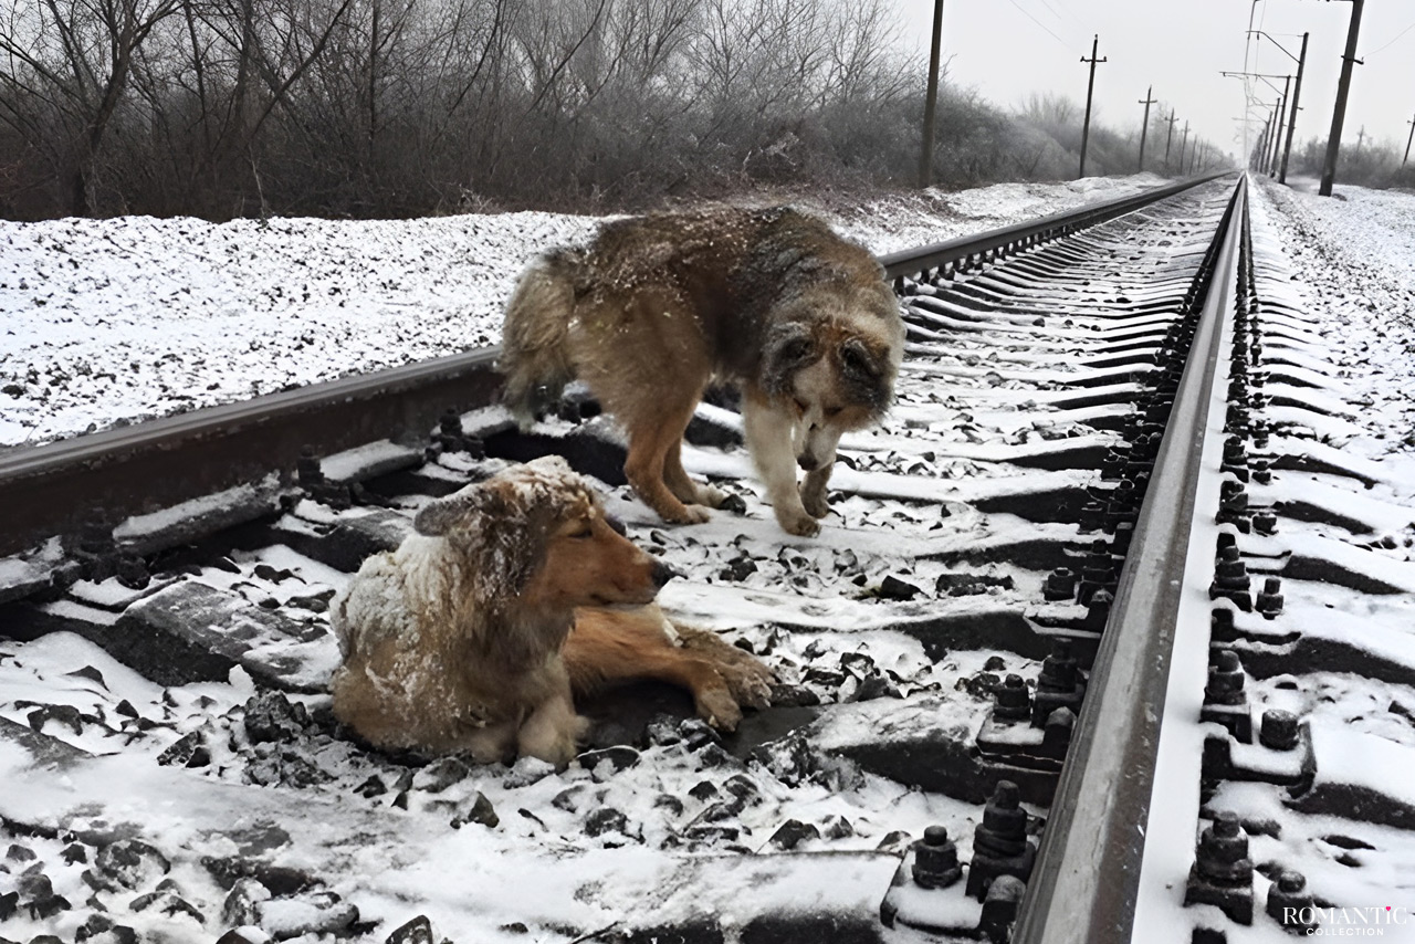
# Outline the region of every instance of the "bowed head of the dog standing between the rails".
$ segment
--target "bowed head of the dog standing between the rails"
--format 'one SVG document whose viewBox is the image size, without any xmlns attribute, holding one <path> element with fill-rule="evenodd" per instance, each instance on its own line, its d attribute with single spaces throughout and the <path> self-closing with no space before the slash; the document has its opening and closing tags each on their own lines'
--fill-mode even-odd
<svg viewBox="0 0 1415 944">
<path fill-rule="evenodd" d="M 767 333 L 761 385 L 797 419 L 802 468 L 835 461 L 841 433 L 877 422 L 894 399 L 904 324 L 889 286 L 822 284 Z"/>
</svg>

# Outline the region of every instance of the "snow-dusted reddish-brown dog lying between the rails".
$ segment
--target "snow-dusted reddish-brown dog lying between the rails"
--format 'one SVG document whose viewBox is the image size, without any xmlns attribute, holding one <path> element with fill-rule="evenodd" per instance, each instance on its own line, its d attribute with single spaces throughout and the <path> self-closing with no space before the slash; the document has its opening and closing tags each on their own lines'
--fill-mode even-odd
<svg viewBox="0 0 1415 944">
<path fill-rule="evenodd" d="M 767 703 L 764 665 L 651 606 L 672 570 L 559 457 L 433 501 L 413 528 L 330 609 L 334 713 L 378 747 L 565 764 L 586 729 L 573 693 L 640 678 L 689 689 L 724 729 Z"/>
</svg>

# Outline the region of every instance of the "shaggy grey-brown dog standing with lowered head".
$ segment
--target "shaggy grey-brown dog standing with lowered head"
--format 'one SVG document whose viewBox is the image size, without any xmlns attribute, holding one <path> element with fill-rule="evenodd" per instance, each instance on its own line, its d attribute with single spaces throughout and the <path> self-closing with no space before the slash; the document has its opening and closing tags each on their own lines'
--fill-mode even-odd
<svg viewBox="0 0 1415 944">
<path fill-rule="evenodd" d="M 713 378 L 736 382 L 777 521 L 814 535 L 841 433 L 893 399 L 904 324 L 883 276 L 862 246 L 794 209 L 606 224 L 522 275 L 502 331 L 507 403 L 529 425 L 584 381 L 628 432 L 638 495 L 692 524 L 724 495 L 683 471 L 683 430 Z"/>
</svg>

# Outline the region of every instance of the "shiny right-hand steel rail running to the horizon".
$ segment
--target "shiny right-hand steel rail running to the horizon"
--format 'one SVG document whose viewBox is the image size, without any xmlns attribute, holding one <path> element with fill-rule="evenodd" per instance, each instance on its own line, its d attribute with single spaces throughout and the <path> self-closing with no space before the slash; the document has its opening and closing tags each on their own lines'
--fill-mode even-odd
<svg viewBox="0 0 1415 944">
<path fill-rule="evenodd" d="M 1190 359 L 1101 635 L 1012 944 L 1131 940 L 1176 614 L 1201 474 L 1223 321 L 1237 289 L 1247 178 L 1223 239 Z"/>
</svg>

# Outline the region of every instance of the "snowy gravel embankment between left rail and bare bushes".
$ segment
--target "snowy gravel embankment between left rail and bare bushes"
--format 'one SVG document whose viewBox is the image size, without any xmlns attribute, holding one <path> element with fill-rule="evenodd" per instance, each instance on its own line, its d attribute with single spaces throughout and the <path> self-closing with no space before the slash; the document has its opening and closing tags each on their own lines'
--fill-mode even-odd
<svg viewBox="0 0 1415 944">
<path fill-rule="evenodd" d="M 1160 183 L 998 184 L 822 212 L 886 253 Z M 539 212 L 0 221 L 0 446 L 495 344 L 525 260 L 597 222 Z"/>
</svg>

